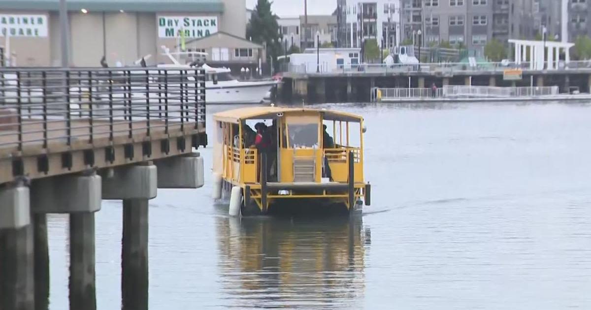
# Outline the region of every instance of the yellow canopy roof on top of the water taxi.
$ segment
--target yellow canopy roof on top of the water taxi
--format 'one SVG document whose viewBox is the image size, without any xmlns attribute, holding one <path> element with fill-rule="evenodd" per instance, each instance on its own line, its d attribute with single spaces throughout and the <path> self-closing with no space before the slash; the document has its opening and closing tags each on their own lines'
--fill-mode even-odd
<svg viewBox="0 0 591 310">
<path fill-rule="evenodd" d="M 363 118 L 359 115 L 351 113 L 337 112 L 335 110 L 325 109 L 305 109 L 294 107 L 244 107 L 241 109 L 233 109 L 224 112 L 219 112 L 213 115 L 213 119 L 225 123 L 240 123 L 241 120 L 246 119 L 272 119 L 277 117 L 277 113 L 284 115 L 296 114 L 301 112 L 320 113 L 325 120 L 336 120 L 341 122 L 355 122 L 359 123 Z"/>
</svg>

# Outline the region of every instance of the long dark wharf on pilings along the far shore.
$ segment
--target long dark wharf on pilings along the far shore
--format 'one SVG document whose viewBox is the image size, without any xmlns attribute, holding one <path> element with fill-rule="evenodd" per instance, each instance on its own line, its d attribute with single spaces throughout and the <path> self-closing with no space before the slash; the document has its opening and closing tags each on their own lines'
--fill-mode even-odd
<svg viewBox="0 0 591 310">
<path fill-rule="evenodd" d="M 519 71 L 508 76 L 506 71 Z M 378 88 L 421 89 L 444 86 L 547 87 L 558 86 L 561 94 L 572 87 L 591 93 L 591 61 L 570 61 L 553 70 L 535 70 L 529 63 L 421 63 L 357 64 L 330 71 L 307 71 L 290 66 L 280 89 L 282 102 L 369 102 Z"/>
</svg>

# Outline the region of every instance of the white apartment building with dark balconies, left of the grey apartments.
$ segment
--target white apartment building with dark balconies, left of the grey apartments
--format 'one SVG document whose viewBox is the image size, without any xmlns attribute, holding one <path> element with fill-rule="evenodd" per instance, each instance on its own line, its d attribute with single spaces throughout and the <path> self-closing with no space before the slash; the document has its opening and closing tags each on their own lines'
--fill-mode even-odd
<svg viewBox="0 0 591 310">
<path fill-rule="evenodd" d="M 338 0 L 335 11 L 340 47 L 362 47 L 365 40 L 379 45 L 400 44 L 400 0 Z"/>
</svg>

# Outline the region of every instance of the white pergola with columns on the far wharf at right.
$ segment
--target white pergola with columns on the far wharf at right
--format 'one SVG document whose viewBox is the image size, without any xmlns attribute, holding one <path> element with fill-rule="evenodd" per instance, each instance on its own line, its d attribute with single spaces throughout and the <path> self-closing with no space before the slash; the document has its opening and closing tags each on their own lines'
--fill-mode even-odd
<svg viewBox="0 0 591 310">
<path fill-rule="evenodd" d="M 530 40 L 509 40 L 515 45 L 515 63 L 527 62 L 527 53 L 530 53 L 530 70 L 558 70 L 558 58 L 560 52 L 564 51 L 564 61 L 570 61 L 570 48 L 574 43 L 555 41 L 530 41 Z M 544 53 L 547 50 L 547 53 Z M 544 68 L 544 64 L 548 66 Z"/>
</svg>

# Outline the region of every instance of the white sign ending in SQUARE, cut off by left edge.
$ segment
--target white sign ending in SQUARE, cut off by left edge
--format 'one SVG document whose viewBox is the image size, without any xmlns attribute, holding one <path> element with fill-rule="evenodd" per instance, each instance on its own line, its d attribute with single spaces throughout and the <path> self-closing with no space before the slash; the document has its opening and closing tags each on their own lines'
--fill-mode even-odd
<svg viewBox="0 0 591 310">
<path fill-rule="evenodd" d="M 47 37 L 47 16 L 37 14 L 1 14 L 0 37 Z"/>
</svg>

